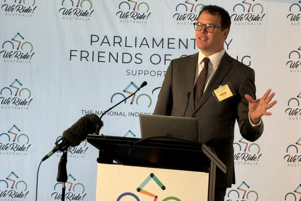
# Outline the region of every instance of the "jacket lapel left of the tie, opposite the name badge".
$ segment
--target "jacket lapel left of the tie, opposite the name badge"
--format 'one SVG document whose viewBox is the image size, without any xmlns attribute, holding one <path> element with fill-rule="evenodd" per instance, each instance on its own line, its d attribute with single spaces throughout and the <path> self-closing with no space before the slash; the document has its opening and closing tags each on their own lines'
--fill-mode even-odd
<svg viewBox="0 0 301 201">
<path fill-rule="evenodd" d="M 190 92 L 189 105 L 192 111 L 194 111 L 194 77 L 197 68 L 197 60 L 199 53 L 191 55 L 191 58 L 186 64 L 186 87 L 187 92 Z"/>
</svg>

